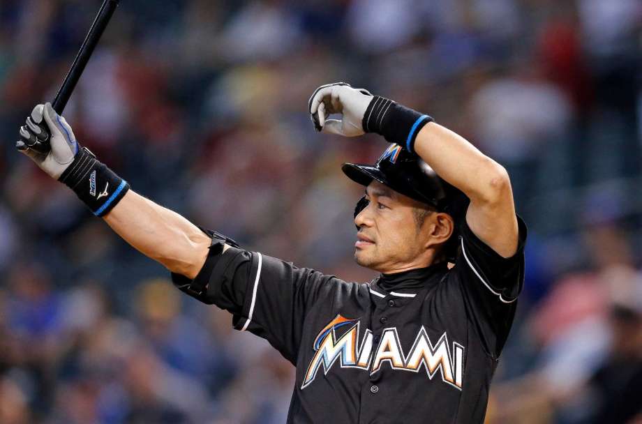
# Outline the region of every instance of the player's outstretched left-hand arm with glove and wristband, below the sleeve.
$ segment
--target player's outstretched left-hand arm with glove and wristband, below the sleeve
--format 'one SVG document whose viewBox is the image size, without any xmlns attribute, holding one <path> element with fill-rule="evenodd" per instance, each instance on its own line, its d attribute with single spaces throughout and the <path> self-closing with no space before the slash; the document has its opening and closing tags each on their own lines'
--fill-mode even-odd
<svg viewBox="0 0 642 424">
<path fill-rule="evenodd" d="M 48 153 L 37 153 L 47 151 L 41 148 L 47 143 Z M 209 236 L 178 213 L 130 190 L 126 181 L 79 146 L 71 127 L 50 104 L 33 109 L 20 128 L 16 147 L 52 178 L 68 185 L 94 215 L 104 218 L 144 255 L 191 279 L 202 268 Z"/>
</svg>

